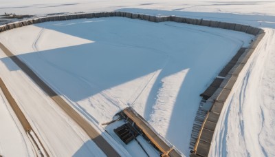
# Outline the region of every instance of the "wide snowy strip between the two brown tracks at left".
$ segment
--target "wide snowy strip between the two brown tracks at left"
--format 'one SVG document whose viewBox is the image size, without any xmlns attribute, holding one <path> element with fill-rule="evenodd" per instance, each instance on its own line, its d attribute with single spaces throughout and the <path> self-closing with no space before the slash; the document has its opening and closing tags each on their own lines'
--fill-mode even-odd
<svg viewBox="0 0 275 157">
<path fill-rule="evenodd" d="M 34 85 L 11 59 L 6 58 L 2 50 L 0 55 L 2 79 L 26 118 L 31 120 L 32 128 L 45 144 L 50 156 L 74 156 L 74 154 L 104 156 L 96 144 L 89 141 L 89 136 L 57 107 L 50 97 Z M 16 71 L 10 72 L 10 68 Z M 21 90 L 17 90 L 18 88 Z"/>
</svg>

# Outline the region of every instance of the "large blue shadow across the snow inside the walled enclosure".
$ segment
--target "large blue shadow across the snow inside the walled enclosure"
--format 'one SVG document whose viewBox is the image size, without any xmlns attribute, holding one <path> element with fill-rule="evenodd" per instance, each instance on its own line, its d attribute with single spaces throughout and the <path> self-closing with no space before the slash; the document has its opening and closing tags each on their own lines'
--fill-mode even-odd
<svg viewBox="0 0 275 157">
<path fill-rule="evenodd" d="M 143 11 L 146 13 L 146 10 L 142 10 L 142 12 Z M 150 12 L 150 10 L 147 11 Z M 174 12 L 166 13 L 173 14 Z M 66 29 L 64 29 L 62 25 L 52 25 L 52 23 L 36 24 L 38 27 L 45 27 L 95 42 L 54 50 L 31 52 L 19 55 L 19 58 L 34 67 L 32 69 L 35 69 L 35 72 L 39 74 L 39 76 L 42 76 L 43 80 L 51 83 L 50 86 L 55 87 L 54 89 L 58 91 L 59 94 L 65 95 L 72 101 L 83 100 L 84 98 L 102 92 L 102 90 L 133 81 L 157 70 L 162 70 L 163 67 L 165 67 L 157 77 L 145 105 L 145 118 L 147 121 L 150 120 L 150 114 L 153 112 L 155 96 L 157 96 L 157 90 L 161 86 L 162 79 L 188 69 L 188 74 L 177 94 L 166 136 L 171 143 L 174 145 L 177 144 L 176 147 L 181 151 L 182 149 L 188 148 L 186 145 L 183 146 L 179 144 L 182 143 L 181 141 L 190 140 L 188 136 L 190 136 L 189 134 L 192 127 L 188 128 L 190 129 L 188 130 L 183 126 L 190 126 L 190 123 L 193 123 L 192 118 L 195 118 L 199 101 L 195 104 L 197 106 L 193 107 L 194 104 L 184 102 L 183 100 L 192 100 L 192 98 L 199 99 L 199 92 L 203 92 L 205 87 L 203 87 L 204 84 L 197 87 L 198 84 L 201 82 L 210 82 L 211 77 L 219 72 L 223 66 L 221 66 L 220 63 L 216 63 L 217 58 L 223 58 L 224 61 L 227 61 L 230 59 L 230 55 L 226 56 L 220 53 L 223 51 L 223 47 L 208 48 L 207 44 L 203 46 L 203 44 L 209 42 L 210 39 L 203 39 L 201 41 L 199 39 L 193 39 L 194 41 L 189 41 L 191 43 L 198 42 L 197 44 L 200 46 L 192 46 L 190 43 L 186 45 L 179 44 L 184 42 L 181 41 L 180 36 L 184 36 L 185 34 L 179 33 L 182 28 L 174 28 L 168 25 L 164 26 L 159 23 L 151 23 L 151 25 L 148 25 L 148 21 L 140 21 L 140 24 L 135 24 L 135 20 L 126 18 L 123 19 L 129 21 L 129 23 L 122 25 L 119 22 L 109 23 L 106 20 L 107 18 L 102 19 L 103 21 L 98 21 L 98 19 L 78 19 L 75 21 L 52 22 L 63 23 L 66 25 Z M 82 21 L 90 21 L 93 25 L 82 23 Z M 86 25 L 85 31 L 78 29 L 77 22 Z M 100 29 L 94 28 L 95 25 L 100 25 Z M 160 25 L 162 25 L 162 27 L 160 27 Z M 153 27 L 153 29 L 151 27 Z M 109 34 L 107 33 L 107 36 L 102 36 L 103 32 L 106 33 L 106 31 L 109 32 Z M 152 31 L 155 31 L 155 35 L 157 34 L 160 42 L 165 42 L 154 43 L 152 36 L 148 36 Z M 142 36 L 141 34 L 144 35 Z M 194 32 L 192 32 L 192 34 L 194 35 Z M 207 32 L 198 32 L 197 36 L 201 34 L 209 35 Z M 214 36 L 211 37 L 214 38 Z M 120 41 L 123 41 L 122 43 L 124 43 L 124 45 L 121 44 Z M 138 41 L 146 42 L 138 43 Z M 152 48 L 157 45 L 159 48 Z M 170 50 L 175 48 L 175 45 L 178 46 L 177 50 L 184 50 L 183 53 L 185 54 L 177 52 L 173 57 L 169 58 L 167 54 L 162 52 L 164 49 L 165 52 L 170 52 Z M 210 53 L 206 54 L 204 52 Z M 140 55 L 140 53 L 148 55 Z M 205 64 L 197 66 L 197 64 L 201 64 L 201 61 L 205 61 L 204 59 L 208 55 L 215 57 L 210 57 Z M 234 54 L 231 54 L 231 56 L 233 55 Z M 5 61 L 6 59 L 1 60 L 7 63 L 7 61 Z M 168 65 L 166 65 L 167 61 L 169 61 Z M 186 64 L 180 64 L 181 62 Z M 10 70 L 16 70 L 12 68 L 13 65 L 9 65 L 10 63 L 7 64 Z M 225 64 L 226 62 L 224 62 L 224 65 Z M 211 70 L 210 74 L 209 69 Z M 198 95 L 190 93 L 190 89 Z M 84 145 L 83 149 L 85 147 L 87 146 Z M 82 147 L 75 155 L 78 156 L 81 152 Z"/>
</svg>

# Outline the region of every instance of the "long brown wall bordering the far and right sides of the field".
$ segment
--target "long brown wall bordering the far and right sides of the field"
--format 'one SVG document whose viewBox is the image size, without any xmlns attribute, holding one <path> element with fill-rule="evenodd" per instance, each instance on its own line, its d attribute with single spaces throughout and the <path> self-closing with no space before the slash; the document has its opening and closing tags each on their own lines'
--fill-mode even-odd
<svg viewBox="0 0 275 157">
<path fill-rule="evenodd" d="M 205 121 L 201 126 L 201 130 L 199 132 L 199 137 L 197 139 L 197 143 L 195 145 L 194 151 L 190 156 L 208 156 L 208 152 L 210 150 L 210 145 L 212 141 L 212 136 L 214 134 L 214 129 L 216 127 L 217 121 L 219 120 L 219 114 L 221 114 L 221 109 L 236 82 L 239 73 L 243 69 L 245 63 L 247 63 L 248 59 L 254 52 L 256 46 L 259 44 L 263 36 L 265 35 L 264 30 L 260 28 L 254 28 L 249 25 L 241 25 L 236 23 L 226 23 L 220 21 L 209 21 L 204 19 L 190 19 L 186 17 L 175 17 L 175 16 L 164 16 L 164 17 L 155 17 L 148 14 L 135 14 L 131 12 L 98 12 L 98 13 L 83 13 L 83 14 L 68 14 L 68 15 L 56 15 L 51 17 L 39 17 L 36 19 L 29 19 L 26 21 L 18 21 L 14 23 L 9 23 L 6 25 L 0 26 L 0 32 L 4 32 L 6 30 L 11 30 L 14 28 L 20 28 L 25 25 L 32 25 L 35 23 L 42 23 L 47 21 L 63 21 L 63 20 L 71 20 L 71 19 L 91 19 L 91 18 L 99 18 L 99 17 L 127 17 L 131 19 L 141 19 L 145 21 L 151 22 L 164 22 L 164 21 L 174 21 L 178 23 L 188 23 L 192 25 L 202 25 L 211 28 L 221 28 L 226 30 L 234 30 L 239 32 L 245 32 L 247 34 L 252 34 L 256 36 L 254 41 L 251 43 L 250 47 L 245 50 L 245 52 L 239 57 L 237 63 L 232 67 L 232 70 L 228 72 L 223 79 L 220 87 L 216 92 L 214 92 L 213 96 L 210 98 L 213 104 L 210 108 Z"/>
</svg>

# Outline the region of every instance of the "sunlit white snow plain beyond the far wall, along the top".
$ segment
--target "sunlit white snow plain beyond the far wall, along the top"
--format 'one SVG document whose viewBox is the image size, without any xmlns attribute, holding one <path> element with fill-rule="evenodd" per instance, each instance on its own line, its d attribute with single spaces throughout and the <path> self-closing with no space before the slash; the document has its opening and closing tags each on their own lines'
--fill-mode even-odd
<svg viewBox="0 0 275 157">
<path fill-rule="evenodd" d="M 0 14 L 47 14 L 58 12 L 101 12 L 121 8 L 143 8 L 151 10 L 215 12 L 236 14 L 275 15 L 273 0 L 1 0 Z"/>
</svg>

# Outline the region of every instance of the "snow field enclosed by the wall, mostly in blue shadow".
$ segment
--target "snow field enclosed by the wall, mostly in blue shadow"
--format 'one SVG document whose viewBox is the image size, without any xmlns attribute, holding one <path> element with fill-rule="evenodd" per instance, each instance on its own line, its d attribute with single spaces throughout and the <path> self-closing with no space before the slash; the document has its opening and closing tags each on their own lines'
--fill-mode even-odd
<svg viewBox="0 0 275 157">
<path fill-rule="evenodd" d="M 184 154 L 199 94 L 252 38 L 120 17 L 39 23 L 0 34 L 1 42 L 98 125 L 131 105 Z"/>
</svg>

